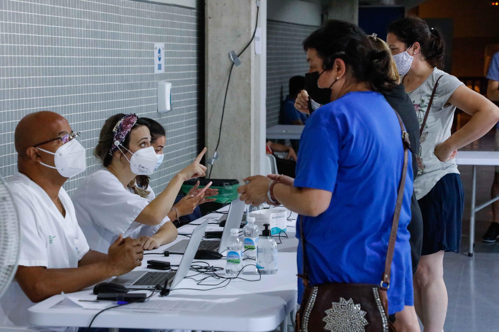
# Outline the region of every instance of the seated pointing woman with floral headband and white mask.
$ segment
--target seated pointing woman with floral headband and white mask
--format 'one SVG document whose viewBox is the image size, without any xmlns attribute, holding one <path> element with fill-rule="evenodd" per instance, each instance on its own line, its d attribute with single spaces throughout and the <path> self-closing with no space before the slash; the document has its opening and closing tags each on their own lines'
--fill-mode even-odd
<svg viewBox="0 0 499 332">
<path fill-rule="evenodd" d="M 94 155 L 101 169 L 86 176 L 72 200 L 76 217 L 90 248 L 106 252 L 106 247 L 123 234 L 143 237 L 146 250 L 158 248 L 177 237 L 177 229 L 168 213 L 182 183 L 205 176 L 200 164 L 206 148 L 194 162 L 176 174 L 168 186 L 149 201 L 130 192 L 128 184 L 136 175 L 149 175 L 158 161 L 147 122 L 135 114 L 117 114 L 106 120 L 99 135 Z M 189 199 L 202 200 L 204 194 Z"/>
</svg>

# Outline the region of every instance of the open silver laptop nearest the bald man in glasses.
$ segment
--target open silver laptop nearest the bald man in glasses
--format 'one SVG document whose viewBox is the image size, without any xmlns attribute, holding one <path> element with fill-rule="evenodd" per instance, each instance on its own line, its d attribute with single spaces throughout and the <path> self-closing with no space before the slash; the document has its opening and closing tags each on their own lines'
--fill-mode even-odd
<svg viewBox="0 0 499 332">
<path fill-rule="evenodd" d="M 167 288 L 171 289 L 184 279 L 191 268 L 194 256 L 198 250 L 199 243 L 203 238 L 208 220 L 196 227 L 192 232 L 191 238 L 188 240 L 188 245 L 185 250 L 179 268 L 169 272 L 148 272 L 148 271 L 132 271 L 122 276 L 114 278 L 111 282 L 123 285 L 134 289 L 154 289 L 156 285 L 165 285 L 168 280 Z"/>
</svg>

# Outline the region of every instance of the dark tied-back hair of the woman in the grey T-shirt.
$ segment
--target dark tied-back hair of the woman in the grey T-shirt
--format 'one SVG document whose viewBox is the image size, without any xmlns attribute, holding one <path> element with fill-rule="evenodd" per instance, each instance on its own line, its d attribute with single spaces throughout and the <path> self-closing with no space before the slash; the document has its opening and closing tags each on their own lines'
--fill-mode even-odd
<svg viewBox="0 0 499 332">
<path fill-rule="evenodd" d="M 444 39 L 435 28 L 430 28 L 421 18 L 408 16 L 388 26 L 388 33 L 393 33 L 407 48 L 418 42 L 426 62 L 431 67 L 442 68 L 444 64 Z"/>
</svg>

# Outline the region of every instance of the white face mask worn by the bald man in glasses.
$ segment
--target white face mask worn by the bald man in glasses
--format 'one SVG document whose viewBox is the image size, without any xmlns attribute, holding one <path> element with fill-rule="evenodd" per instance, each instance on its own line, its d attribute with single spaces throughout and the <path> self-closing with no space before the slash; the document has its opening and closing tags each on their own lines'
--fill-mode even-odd
<svg viewBox="0 0 499 332">
<path fill-rule="evenodd" d="M 86 168 L 85 148 L 80 142 L 72 139 L 66 144 L 61 145 L 55 153 L 36 148 L 47 154 L 54 155 L 54 166 L 50 166 L 40 162 L 41 165 L 57 169 L 59 174 L 64 177 L 71 177 L 81 173 Z"/>
</svg>

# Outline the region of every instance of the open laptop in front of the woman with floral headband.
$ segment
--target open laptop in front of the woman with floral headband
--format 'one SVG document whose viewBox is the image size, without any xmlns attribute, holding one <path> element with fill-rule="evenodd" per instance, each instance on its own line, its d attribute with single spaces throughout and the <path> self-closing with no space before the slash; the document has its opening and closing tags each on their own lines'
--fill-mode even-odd
<svg viewBox="0 0 499 332">
<path fill-rule="evenodd" d="M 198 249 L 210 249 L 218 251 L 219 253 L 224 252 L 227 249 L 226 243 L 231 237 L 231 228 L 239 229 L 245 208 L 245 202 L 239 198 L 233 200 L 229 206 L 229 212 L 227 213 L 227 221 L 225 223 L 224 231 L 222 232 L 222 238 L 203 240 L 201 241 Z M 170 252 L 184 252 L 186 250 L 187 243 L 188 240 L 182 240 L 175 243 L 171 247 L 168 247 L 166 250 Z"/>
</svg>

